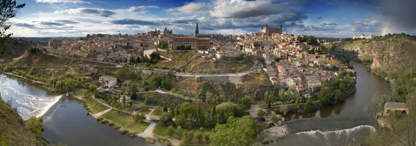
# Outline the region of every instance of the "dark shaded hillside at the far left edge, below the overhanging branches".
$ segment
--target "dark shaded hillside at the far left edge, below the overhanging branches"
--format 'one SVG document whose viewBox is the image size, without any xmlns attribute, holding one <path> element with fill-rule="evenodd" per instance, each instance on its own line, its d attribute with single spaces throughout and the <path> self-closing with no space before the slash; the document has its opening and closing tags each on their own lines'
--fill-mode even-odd
<svg viewBox="0 0 416 146">
<path fill-rule="evenodd" d="M 35 47 L 37 44 L 34 42 L 26 42 L 22 39 L 9 39 L 4 46 L 6 51 L 2 59 L 12 60 L 15 57 L 23 55 L 24 51 L 29 47 Z"/>
</svg>

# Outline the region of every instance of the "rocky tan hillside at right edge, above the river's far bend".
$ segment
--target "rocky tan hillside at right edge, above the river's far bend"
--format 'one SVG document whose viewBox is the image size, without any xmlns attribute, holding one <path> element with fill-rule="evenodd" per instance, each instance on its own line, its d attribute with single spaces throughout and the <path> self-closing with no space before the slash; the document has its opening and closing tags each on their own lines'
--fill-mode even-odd
<svg viewBox="0 0 416 146">
<path fill-rule="evenodd" d="M 416 71 L 416 41 L 404 35 L 329 44 L 344 61 L 370 62 L 371 71 L 383 77 Z"/>
</svg>

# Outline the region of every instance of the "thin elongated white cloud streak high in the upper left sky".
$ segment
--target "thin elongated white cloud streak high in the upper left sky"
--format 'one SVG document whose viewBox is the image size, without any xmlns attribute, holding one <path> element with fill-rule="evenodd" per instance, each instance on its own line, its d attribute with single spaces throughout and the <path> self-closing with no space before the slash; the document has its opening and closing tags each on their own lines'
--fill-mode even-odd
<svg viewBox="0 0 416 146">
<path fill-rule="evenodd" d="M 111 17 L 112 15 L 115 15 L 115 12 L 112 12 L 110 10 L 105 10 L 102 8 L 76 8 L 76 9 L 69 9 L 69 10 L 57 10 L 53 13 L 55 14 L 62 14 L 64 12 L 67 12 L 68 14 L 85 14 L 85 15 L 95 15 L 100 17 Z"/>
</svg>

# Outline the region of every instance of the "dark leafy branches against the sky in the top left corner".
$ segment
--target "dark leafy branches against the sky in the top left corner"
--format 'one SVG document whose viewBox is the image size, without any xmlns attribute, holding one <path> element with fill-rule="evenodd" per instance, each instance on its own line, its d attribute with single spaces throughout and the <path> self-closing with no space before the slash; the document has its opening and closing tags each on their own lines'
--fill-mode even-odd
<svg viewBox="0 0 416 146">
<path fill-rule="evenodd" d="M 4 26 L 0 30 L 0 58 L 3 57 L 6 48 L 4 47 L 4 43 L 6 43 L 7 39 L 11 37 L 13 34 L 9 33 L 6 34 L 6 31 L 10 28 L 10 25 L 6 25 L 6 21 L 16 16 L 17 12 L 26 6 L 25 3 L 17 4 L 15 0 L 2 0 L 0 1 L 0 26 Z"/>
</svg>

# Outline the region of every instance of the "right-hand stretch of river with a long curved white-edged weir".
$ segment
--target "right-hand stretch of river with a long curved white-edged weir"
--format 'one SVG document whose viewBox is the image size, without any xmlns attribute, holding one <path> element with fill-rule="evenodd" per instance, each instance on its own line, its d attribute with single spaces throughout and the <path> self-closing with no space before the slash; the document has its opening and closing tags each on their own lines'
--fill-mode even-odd
<svg viewBox="0 0 416 146">
<path fill-rule="evenodd" d="M 365 143 L 374 127 L 370 100 L 376 93 L 386 94 L 388 82 L 368 72 L 364 64 L 354 63 L 356 91 L 339 104 L 311 113 L 286 116 L 289 135 L 272 145 L 358 145 Z"/>
</svg>

